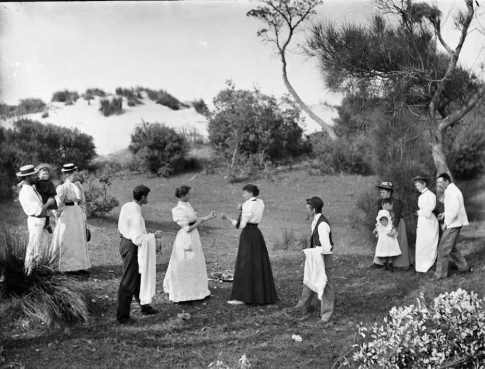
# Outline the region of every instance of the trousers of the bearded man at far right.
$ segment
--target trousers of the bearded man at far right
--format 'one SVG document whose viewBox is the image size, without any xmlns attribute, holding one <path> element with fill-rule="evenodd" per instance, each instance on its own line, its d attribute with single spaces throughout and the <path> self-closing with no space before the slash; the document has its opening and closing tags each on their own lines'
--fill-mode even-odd
<svg viewBox="0 0 485 369">
<path fill-rule="evenodd" d="M 437 278 L 446 278 L 448 276 L 450 262 L 454 263 L 460 272 L 469 269 L 467 260 L 465 260 L 460 250 L 456 247 L 456 241 L 458 241 L 460 231 L 461 227 L 446 228 L 443 231 L 443 235 L 438 244 L 438 256 L 436 257 L 435 275 Z"/>
</svg>

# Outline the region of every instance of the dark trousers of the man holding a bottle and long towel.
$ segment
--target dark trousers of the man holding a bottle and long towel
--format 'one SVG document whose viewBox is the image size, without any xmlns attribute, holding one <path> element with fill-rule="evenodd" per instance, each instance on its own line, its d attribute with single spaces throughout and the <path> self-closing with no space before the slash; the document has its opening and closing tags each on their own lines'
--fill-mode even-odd
<svg viewBox="0 0 485 369">
<path fill-rule="evenodd" d="M 133 296 L 140 303 L 141 281 L 140 273 L 138 273 L 138 247 L 131 240 L 122 237 L 120 254 L 123 259 L 123 275 L 118 289 L 118 309 L 116 311 L 118 321 L 129 318 Z"/>
</svg>

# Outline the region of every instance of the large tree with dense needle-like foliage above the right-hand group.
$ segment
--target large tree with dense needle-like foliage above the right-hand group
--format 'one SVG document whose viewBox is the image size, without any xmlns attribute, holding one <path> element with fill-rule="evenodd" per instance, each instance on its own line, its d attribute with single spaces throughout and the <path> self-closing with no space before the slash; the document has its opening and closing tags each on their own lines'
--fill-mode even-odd
<svg viewBox="0 0 485 369">
<path fill-rule="evenodd" d="M 450 173 L 443 148 L 447 128 L 485 95 L 483 81 L 458 65 L 476 16 L 474 2 L 464 1 L 466 12 L 454 19 L 460 30 L 455 48 L 443 38 L 438 8 L 411 0 L 377 0 L 381 14 L 369 26 L 321 22 L 307 39 L 307 53 L 318 58 L 330 90 L 378 96 L 394 111 L 416 114 L 430 130 L 437 173 Z"/>
</svg>

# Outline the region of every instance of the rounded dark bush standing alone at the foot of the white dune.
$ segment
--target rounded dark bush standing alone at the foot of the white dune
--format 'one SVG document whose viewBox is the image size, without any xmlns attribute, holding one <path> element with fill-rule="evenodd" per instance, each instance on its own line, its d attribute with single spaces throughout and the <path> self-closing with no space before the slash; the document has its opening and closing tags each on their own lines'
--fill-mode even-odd
<svg viewBox="0 0 485 369">
<path fill-rule="evenodd" d="M 135 127 L 129 145 L 135 155 L 133 166 L 158 176 L 184 170 L 188 149 L 187 141 L 175 129 L 145 121 Z"/>
</svg>

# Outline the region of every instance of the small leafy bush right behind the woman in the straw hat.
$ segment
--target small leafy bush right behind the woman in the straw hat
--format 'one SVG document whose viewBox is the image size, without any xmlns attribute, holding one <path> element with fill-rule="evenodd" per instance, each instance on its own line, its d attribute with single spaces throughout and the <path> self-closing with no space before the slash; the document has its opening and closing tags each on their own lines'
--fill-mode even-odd
<svg viewBox="0 0 485 369">
<path fill-rule="evenodd" d="M 81 171 L 78 173 L 86 198 L 86 216 L 97 218 L 110 212 L 119 205 L 119 201 L 111 195 L 110 167 L 107 166 L 98 173 Z"/>
</svg>

